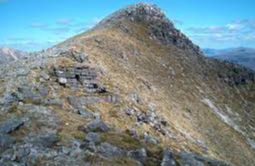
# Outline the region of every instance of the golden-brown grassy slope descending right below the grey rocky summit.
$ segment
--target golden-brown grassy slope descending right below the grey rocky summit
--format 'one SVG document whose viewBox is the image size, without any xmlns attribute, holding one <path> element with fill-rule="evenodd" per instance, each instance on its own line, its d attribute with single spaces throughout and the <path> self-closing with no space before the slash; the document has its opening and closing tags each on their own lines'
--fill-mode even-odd
<svg viewBox="0 0 255 166">
<path fill-rule="evenodd" d="M 121 96 L 122 102 L 118 105 L 95 104 L 91 109 L 99 110 L 106 122 L 120 130 L 137 128 L 140 134 L 148 131 L 161 139 L 162 146 L 177 151 L 205 154 L 196 141 L 201 140 L 208 148 L 209 156 L 235 165 L 254 163 L 255 153 L 246 139 L 201 102 L 208 98 L 223 112 L 227 106 L 239 114 L 240 126 L 254 126 L 246 124 L 243 111 L 245 99 L 251 103 L 255 101 L 254 90 L 248 89 L 254 85 L 231 87 L 217 76 L 217 72 L 228 73 L 231 67 L 228 69 L 225 64 L 192 55 L 175 46 L 160 45 L 149 39 L 143 25 L 131 22 L 122 25 L 129 27 L 129 32 L 123 32 L 116 25 L 92 30 L 61 44 L 76 41 L 73 47 L 88 53 L 91 64 L 104 72 L 101 82 Z M 128 96 L 132 92 L 139 93 L 141 103 L 130 101 Z M 127 107 L 147 111 L 150 103 L 156 105 L 159 115 L 166 117 L 169 130 L 176 138 L 166 138 L 147 125 L 137 127 L 134 119 L 123 116 L 120 111 Z M 254 114 L 250 112 L 251 117 Z M 247 132 L 251 133 L 249 129 Z"/>
</svg>

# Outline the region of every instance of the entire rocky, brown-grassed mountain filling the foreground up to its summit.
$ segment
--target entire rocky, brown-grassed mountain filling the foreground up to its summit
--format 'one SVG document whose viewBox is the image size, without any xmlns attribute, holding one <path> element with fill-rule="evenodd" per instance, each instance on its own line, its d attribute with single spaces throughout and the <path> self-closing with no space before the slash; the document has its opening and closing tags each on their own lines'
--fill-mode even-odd
<svg viewBox="0 0 255 166">
<path fill-rule="evenodd" d="M 155 5 L 0 66 L 2 166 L 253 166 L 255 73 Z"/>
</svg>

